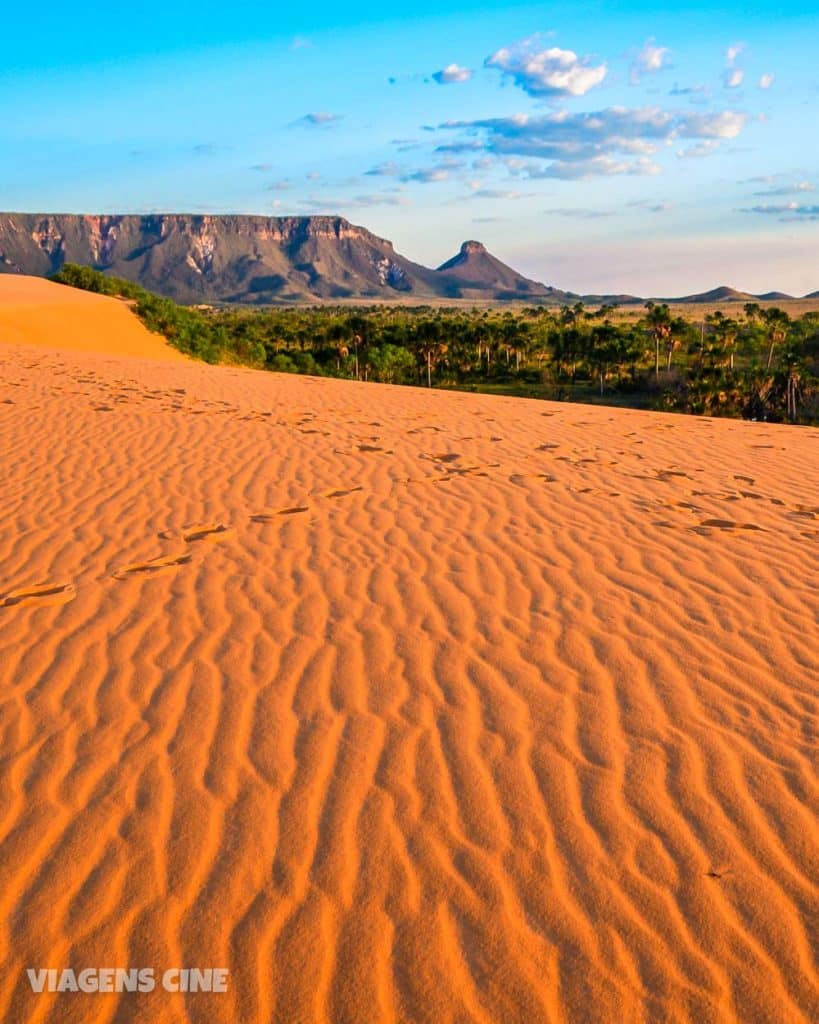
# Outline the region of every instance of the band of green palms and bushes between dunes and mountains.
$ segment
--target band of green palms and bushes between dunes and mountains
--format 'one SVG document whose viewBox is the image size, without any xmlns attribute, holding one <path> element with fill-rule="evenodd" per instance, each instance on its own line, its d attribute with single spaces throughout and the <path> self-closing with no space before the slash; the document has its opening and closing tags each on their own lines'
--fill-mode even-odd
<svg viewBox="0 0 819 1024">
<path fill-rule="evenodd" d="M 819 313 L 747 303 L 695 323 L 646 303 L 548 309 L 193 309 L 67 264 L 53 279 L 131 300 L 183 352 L 282 373 L 357 378 L 710 416 L 819 423 Z"/>
</svg>

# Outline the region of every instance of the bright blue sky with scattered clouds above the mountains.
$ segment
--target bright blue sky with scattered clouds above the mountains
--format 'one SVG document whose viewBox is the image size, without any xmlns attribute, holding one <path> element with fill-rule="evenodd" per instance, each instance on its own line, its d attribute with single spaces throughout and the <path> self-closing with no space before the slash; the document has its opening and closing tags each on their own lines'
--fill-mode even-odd
<svg viewBox="0 0 819 1024">
<path fill-rule="evenodd" d="M 4 11 L 0 208 L 339 213 L 576 291 L 819 288 L 808 3 Z"/>
</svg>

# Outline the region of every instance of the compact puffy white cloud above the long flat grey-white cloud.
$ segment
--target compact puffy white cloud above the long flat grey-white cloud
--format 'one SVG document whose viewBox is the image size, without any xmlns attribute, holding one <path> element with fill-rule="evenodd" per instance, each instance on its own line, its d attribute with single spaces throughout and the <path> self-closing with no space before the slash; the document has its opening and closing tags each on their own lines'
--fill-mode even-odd
<svg viewBox="0 0 819 1024">
<path fill-rule="evenodd" d="M 484 66 L 497 68 L 528 95 L 552 99 L 585 96 L 608 72 L 605 63 L 594 67 L 590 57 L 578 57 L 573 50 L 538 49 L 534 39 L 502 47 Z"/>
</svg>

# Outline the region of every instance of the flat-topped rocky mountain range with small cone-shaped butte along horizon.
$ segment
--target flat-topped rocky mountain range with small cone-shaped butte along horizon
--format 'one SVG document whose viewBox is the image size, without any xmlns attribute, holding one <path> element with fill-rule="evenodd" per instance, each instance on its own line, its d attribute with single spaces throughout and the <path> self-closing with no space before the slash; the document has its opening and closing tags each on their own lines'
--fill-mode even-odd
<svg viewBox="0 0 819 1024">
<path fill-rule="evenodd" d="M 345 299 L 639 303 L 530 281 L 480 242 L 436 269 L 343 217 L 0 213 L 0 272 L 47 276 L 80 263 L 181 303 L 283 304 Z M 812 297 L 819 297 L 815 293 Z M 719 288 L 677 302 L 789 298 Z"/>
</svg>

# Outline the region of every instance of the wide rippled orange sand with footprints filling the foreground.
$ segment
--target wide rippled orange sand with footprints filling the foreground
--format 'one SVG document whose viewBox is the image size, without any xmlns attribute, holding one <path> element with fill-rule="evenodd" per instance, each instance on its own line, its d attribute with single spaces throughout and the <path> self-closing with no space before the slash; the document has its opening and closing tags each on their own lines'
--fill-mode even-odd
<svg viewBox="0 0 819 1024">
<path fill-rule="evenodd" d="M 0 348 L 0 1019 L 819 1019 L 818 441 Z"/>
</svg>

